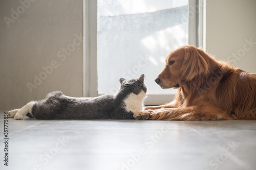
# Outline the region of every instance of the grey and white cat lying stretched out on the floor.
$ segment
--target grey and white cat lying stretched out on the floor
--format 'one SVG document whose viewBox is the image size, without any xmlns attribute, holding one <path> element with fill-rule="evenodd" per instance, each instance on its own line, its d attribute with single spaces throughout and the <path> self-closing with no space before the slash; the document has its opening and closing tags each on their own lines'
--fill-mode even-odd
<svg viewBox="0 0 256 170">
<path fill-rule="evenodd" d="M 116 94 L 96 98 L 73 98 L 53 91 L 44 100 L 9 111 L 8 117 L 20 120 L 26 115 L 37 119 L 133 119 L 134 113 L 143 110 L 144 75 L 132 80 L 120 78 L 119 82 L 121 86 Z"/>
</svg>

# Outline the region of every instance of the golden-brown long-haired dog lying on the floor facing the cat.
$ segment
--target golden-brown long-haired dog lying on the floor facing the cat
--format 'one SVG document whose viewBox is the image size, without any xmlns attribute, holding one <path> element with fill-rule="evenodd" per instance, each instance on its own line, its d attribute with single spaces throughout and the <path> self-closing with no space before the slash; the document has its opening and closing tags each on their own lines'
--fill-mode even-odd
<svg viewBox="0 0 256 170">
<path fill-rule="evenodd" d="M 146 107 L 137 119 L 251 120 L 256 119 L 256 74 L 216 61 L 185 45 L 172 51 L 156 82 L 179 88 L 171 103 Z"/>
</svg>

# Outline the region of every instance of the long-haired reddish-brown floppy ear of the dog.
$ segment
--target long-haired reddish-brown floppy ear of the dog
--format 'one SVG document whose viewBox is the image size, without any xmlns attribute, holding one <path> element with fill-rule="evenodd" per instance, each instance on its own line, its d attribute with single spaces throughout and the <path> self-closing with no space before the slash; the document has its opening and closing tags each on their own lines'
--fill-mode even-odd
<svg viewBox="0 0 256 170">
<path fill-rule="evenodd" d="M 182 63 L 182 77 L 190 81 L 197 76 L 206 76 L 209 72 L 209 56 L 197 47 L 185 48 L 185 57 Z"/>
</svg>

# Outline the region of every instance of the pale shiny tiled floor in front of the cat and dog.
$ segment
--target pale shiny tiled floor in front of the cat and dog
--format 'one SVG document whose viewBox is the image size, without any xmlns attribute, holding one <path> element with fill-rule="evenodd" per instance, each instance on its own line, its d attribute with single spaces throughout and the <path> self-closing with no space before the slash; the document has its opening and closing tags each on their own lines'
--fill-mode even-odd
<svg viewBox="0 0 256 170">
<path fill-rule="evenodd" d="M 8 119 L 1 169 L 256 169 L 256 121 Z"/>
</svg>

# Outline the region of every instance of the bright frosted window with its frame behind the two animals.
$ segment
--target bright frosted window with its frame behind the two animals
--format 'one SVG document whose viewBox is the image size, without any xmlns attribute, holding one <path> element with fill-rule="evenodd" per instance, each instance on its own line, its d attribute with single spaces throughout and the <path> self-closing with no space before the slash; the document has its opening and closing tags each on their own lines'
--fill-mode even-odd
<svg viewBox="0 0 256 170">
<path fill-rule="evenodd" d="M 119 78 L 145 74 L 146 104 L 172 100 L 175 89 L 163 90 L 154 80 L 175 48 L 197 46 L 196 1 L 188 0 L 85 0 L 87 95 L 114 93 Z M 194 15 L 193 15 L 194 14 Z M 97 40 L 97 41 L 96 41 Z M 92 65 L 97 65 L 96 68 Z M 94 85 L 93 85 L 94 84 Z M 170 95 L 173 94 L 173 95 Z"/>
</svg>

